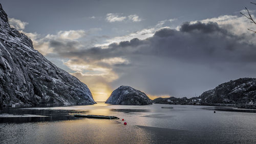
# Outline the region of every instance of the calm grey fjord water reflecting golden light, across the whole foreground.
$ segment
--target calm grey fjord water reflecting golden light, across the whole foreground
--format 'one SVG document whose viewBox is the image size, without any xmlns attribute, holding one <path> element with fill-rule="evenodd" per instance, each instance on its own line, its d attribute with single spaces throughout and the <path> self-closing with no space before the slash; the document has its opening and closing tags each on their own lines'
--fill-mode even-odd
<svg viewBox="0 0 256 144">
<path fill-rule="evenodd" d="M 161 107 L 172 106 L 173 109 Z M 206 109 L 205 109 L 206 108 Z M 206 106 L 96 105 L 10 108 L 0 114 L 1 143 L 256 143 L 256 113 Z M 75 118 L 73 114 L 120 119 Z M 123 125 L 121 119 L 127 125 Z"/>
</svg>

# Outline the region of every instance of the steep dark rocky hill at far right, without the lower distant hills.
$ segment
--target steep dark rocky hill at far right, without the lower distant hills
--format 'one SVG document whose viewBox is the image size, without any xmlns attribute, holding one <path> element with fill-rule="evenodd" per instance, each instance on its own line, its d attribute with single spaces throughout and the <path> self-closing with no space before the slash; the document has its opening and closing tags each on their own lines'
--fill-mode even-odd
<svg viewBox="0 0 256 144">
<path fill-rule="evenodd" d="M 239 78 L 221 84 L 201 94 L 202 102 L 208 104 L 256 105 L 256 78 Z"/>
</svg>

